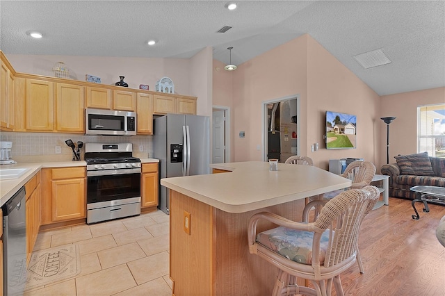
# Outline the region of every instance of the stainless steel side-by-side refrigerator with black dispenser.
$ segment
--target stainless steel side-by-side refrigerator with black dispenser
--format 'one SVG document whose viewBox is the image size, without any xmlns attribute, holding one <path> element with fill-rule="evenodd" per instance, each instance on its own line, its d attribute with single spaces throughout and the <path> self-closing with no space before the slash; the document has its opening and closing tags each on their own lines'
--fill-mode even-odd
<svg viewBox="0 0 445 296">
<path fill-rule="evenodd" d="M 159 179 L 210 173 L 210 118 L 168 114 L 154 120 L 154 158 Z M 168 189 L 159 184 L 158 208 L 169 213 Z"/>
</svg>

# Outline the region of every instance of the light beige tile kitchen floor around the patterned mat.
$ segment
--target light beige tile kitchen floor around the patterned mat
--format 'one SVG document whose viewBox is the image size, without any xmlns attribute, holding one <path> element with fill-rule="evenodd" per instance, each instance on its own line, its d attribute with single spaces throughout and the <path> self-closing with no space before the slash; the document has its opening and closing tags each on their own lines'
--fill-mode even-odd
<svg viewBox="0 0 445 296">
<path fill-rule="evenodd" d="M 34 251 L 76 243 L 81 273 L 26 290 L 25 296 L 172 295 L 169 216 L 161 211 L 38 234 Z"/>
</svg>

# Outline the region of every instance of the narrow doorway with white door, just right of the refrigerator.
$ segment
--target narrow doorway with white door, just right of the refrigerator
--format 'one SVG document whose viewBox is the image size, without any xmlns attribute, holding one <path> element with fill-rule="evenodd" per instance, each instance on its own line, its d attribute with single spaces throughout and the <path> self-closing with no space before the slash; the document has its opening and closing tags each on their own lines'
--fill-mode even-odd
<svg viewBox="0 0 445 296">
<path fill-rule="evenodd" d="M 213 106 L 212 163 L 230 162 L 230 108 Z"/>
</svg>

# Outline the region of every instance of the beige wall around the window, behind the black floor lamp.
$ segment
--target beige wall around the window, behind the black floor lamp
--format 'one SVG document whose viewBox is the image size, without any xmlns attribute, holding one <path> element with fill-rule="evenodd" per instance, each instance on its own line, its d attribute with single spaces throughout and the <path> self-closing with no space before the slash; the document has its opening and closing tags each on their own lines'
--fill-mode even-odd
<svg viewBox="0 0 445 296">
<path fill-rule="evenodd" d="M 417 152 L 417 106 L 445 104 L 445 88 L 403 92 L 380 97 L 379 117 L 397 117 L 389 124 L 389 163 L 398 154 Z M 380 121 L 382 153 L 380 163 L 386 163 L 387 125 Z"/>
</svg>

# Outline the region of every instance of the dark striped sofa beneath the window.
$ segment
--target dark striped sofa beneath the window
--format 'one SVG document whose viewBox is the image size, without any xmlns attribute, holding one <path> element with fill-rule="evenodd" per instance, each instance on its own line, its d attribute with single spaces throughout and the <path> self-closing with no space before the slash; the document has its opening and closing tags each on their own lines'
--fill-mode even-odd
<svg viewBox="0 0 445 296">
<path fill-rule="evenodd" d="M 430 157 L 428 153 L 394 156 L 396 163 L 382 165 L 380 172 L 390 176 L 389 196 L 415 199 L 410 188 L 418 185 L 445 187 L 445 158 Z M 437 202 L 444 204 L 445 202 Z"/>
</svg>

